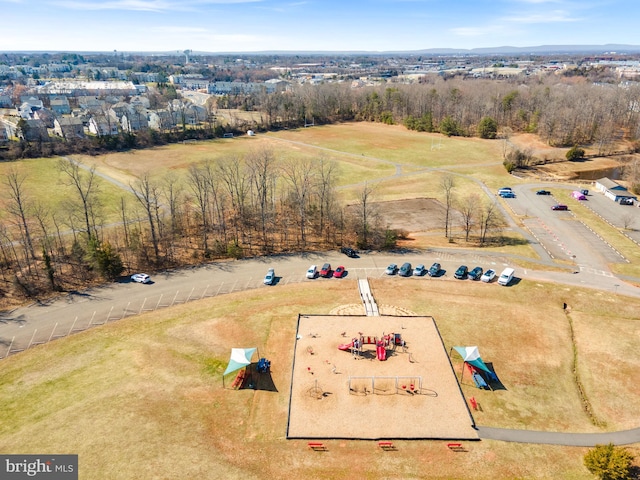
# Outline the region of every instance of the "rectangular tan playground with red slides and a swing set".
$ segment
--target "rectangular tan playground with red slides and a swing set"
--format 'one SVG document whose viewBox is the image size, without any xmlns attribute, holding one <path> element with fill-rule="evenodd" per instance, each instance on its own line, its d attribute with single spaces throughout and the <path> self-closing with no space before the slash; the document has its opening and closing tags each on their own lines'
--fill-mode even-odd
<svg viewBox="0 0 640 480">
<path fill-rule="evenodd" d="M 288 438 L 475 440 L 432 317 L 300 315 Z"/>
</svg>

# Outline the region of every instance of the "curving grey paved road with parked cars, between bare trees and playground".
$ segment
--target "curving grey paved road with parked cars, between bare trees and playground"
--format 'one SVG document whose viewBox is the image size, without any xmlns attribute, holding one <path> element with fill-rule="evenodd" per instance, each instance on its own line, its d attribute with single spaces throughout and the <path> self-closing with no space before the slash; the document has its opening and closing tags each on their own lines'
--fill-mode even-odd
<svg viewBox="0 0 640 480">
<path fill-rule="evenodd" d="M 153 283 L 141 285 L 130 280 L 108 284 L 83 292 L 72 292 L 47 303 L 35 303 L 10 312 L 0 312 L 0 358 L 34 344 L 66 336 L 74 331 L 119 320 L 142 312 L 185 303 L 204 297 L 253 288 L 278 288 L 278 285 L 299 282 L 339 281 L 333 279 L 308 280 L 306 270 L 311 264 L 330 262 L 334 267 L 345 265 L 347 278 L 367 278 L 384 275 L 389 263 L 427 266 L 437 261 L 446 270 L 443 278 L 402 279 L 406 281 L 454 281 L 452 272 L 462 263 L 469 267 L 480 265 L 498 273 L 513 264 L 518 257 L 491 255 L 485 252 L 448 249 L 410 251 L 402 254 L 370 253 L 349 259 L 338 252 L 280 255 L 239 261 L 215 262 L 198 268 L 167 271 L 153 276 Z M 533 263 L 531 259 L 526 259 Z M 552 262 L 541 262 L 553 264 Z M 554 265 L 557 267 L 557 265 Z M 275 268 L 277 280 L 266 287 L 262 280 L 267 268 Z M 516 277 L 535 281 L 553 281 L 605 290 L 620 295 L 640 297 L 640 288 L 602 272 L 567 268 L 563 271 L 517 269 Z M 640 279 L 635 279 L 640 283 Z M 469 288 L 487 285 L 469 282 Z M 492 288 L 502 288 L 490 285 Z M 517 288 L 513 287 L 513 288 Z"/>
</svg>

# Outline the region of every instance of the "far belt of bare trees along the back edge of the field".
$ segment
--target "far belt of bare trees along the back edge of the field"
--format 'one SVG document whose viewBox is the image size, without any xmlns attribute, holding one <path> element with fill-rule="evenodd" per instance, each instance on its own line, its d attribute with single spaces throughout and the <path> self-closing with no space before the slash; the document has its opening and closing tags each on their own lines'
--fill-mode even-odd
<svg viewBox="0 0 640 480">
<path fill-rule="evenodd" d="M 297 128 L 310 121 L 403 124 L 417 131 L 482 138 L 527 132 L 539 135 L 551 146 L 595 146 L 601 155 L 617 150 L 621 140 L 634 142 L 634 151 L 640 149 L 640 86 L 596 83 L 584 77 L 546 75 L 492 80 L 427 75 L 412 84 L 292 84 L 283 92 L 263 90 L 210 100 L 212 114 L 217 108 L 239 108 L 259 112 L 258 119 L 218 125 L 217 131 L 203 124 L 174 132 L 145 129 L 121 134 L 116 140 L 98 137 L 84 142 L 59 141 L 53 146 L 23 145 L 12 147 L 11 155 L 6 151 L 0 151 L 0 155 L 16 158 L 56 155 L 58 151 L 79 153 L 78 148 L 83 153 L 92 149 L 99 152 L 144 148 L 186 138 L 215 138 L 246 129 Z"/>
</svg>

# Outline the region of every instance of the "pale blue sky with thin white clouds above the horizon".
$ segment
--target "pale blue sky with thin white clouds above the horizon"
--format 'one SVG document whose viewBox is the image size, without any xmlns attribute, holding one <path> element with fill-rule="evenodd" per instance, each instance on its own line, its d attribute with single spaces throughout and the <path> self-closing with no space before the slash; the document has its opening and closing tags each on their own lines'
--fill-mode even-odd
<svg viewBox="0 0 640 480">
<path fill-rule="evenodd" d="M 0 0 L 0 51 L 640 44 L 638 0 Z"/>
</svg>

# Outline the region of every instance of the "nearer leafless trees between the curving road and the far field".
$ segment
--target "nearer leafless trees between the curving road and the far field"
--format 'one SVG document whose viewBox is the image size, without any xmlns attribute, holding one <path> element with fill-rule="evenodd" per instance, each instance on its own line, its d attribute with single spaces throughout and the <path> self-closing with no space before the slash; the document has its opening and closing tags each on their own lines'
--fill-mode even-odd
<svg viewBox="0 0 640 480">
<path fill-rule="evenodd" d="M 60 158 L 67 188 L 55 209 L 34 200 L 27 174 L 10 170 L 0 182 L 0 298 L 35 297 L 123 273 L 352 246 L 392 249 L 406 232 L 392 230 L 365 183 L 352 205 L 337 200 L 338 166 L 322 156 L 280 159 L 258 149 L 191 165 L 183 176 L 145 173 L 116 199 L 117 221 L 101 203 L 92 167 Z M 53 186 L 52 186 L 53 188 Z M 441 188 L 446 237 L 464 232 L 479 245 L 501 238 L 495 203 L 457 198 L 453 177 Z M 475 234 L 475 235 L 474 235 Z"/>
</svg>

